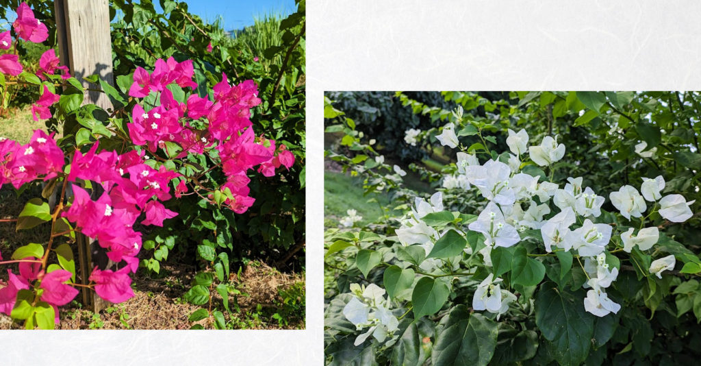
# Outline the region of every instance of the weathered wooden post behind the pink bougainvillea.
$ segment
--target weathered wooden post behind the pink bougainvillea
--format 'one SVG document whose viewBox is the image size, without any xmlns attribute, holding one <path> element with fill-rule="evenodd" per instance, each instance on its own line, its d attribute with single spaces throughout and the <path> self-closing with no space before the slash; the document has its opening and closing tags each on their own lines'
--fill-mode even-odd
<svg viewBox="0 0 701 366">
<path fill-rule="evenodd" d="M 88 82 L 83 80 L 93 74 L 114 85 L 112 74 L 112 44 L 109 32 L 109 2 L 108 0 L 56 0 L 57 39 L 59 53 L 63 65 L 67 65 L 71 74 L 79 79 L 83 86 Z M 109 97 L 99 91 L 86 91 L 83 104 L 92 103 L 107 110 L 112 107 Z M 97 199 L 99 190 L 93 190 L 93 199 Z M 95 266 L 104 269 L 111 266 L 111 261 L 104 255 L 104 249 L 85 235 L 76 235 L 79 260 L 81 261 L 80 277 L 83 284 L 88 283 L 88 277 Z M 83 303 L 94 312 L 109 306 L 95 292 L 83 288 Z"/>
</svg>

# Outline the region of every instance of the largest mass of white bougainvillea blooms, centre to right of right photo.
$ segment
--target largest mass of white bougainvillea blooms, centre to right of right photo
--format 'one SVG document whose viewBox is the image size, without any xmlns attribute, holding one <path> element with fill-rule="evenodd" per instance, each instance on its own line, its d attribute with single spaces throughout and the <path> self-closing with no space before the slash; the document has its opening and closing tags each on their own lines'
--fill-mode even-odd
<svg viewBox="0 0 701 366">
<path fill-rule="evenodd" d="M 459 145 L 454 128 L 454 124 L 449 123 L 444 126 L 442 134 L 437 136 L 443 145 L 451 148 Z M 585 270 L 590 278 L 586 287 L 591 288 L 585 299 L 586 310 L 597 316 L 617 313 L 620 305 L 608 299 L 604 291 L 618 275 L 618 268 L 609 268 L 604 253 L 606 246 L 611 242 L 613 227 L 592 221 L 601 216 L 601 206 L 605 198 L 597 195 L 591 188 L 583 188 L 581 177 L 567 178 L 568 183 L 564 188 L 559 188 L 551 182 L 539 182 L 540 176 L 521 172 L 520 158 L 526 151 L 534 163 L 547 166 L 564 157 L 565 146 L 562 143 L 558 144 L 556 138 L 546 136 L 540 145 L 528 147 L 529 136 L 526 131 L 516 133 L 509 130 L 508 133 L 506 143 L 512 152 L 508 164 L 490 159 L 480 165 L 474 155 L 458 152 L 458 174 L 447 176 L 443 181 L 446 188 L 468 189 L 474 185 L 482 197 L 489 201 L 477 220 L 468 226 L 470 230 L 482 233 L 485 237 L 486 247 L 479 251 L 484 262 L 487 266 L 492 265 L 491 249 L 494 247 L 511 247 L 521 241 L 519 231 L 540 229 L 547 252 L 573 249 L 585 259 Z M 659 204 L 658 212 L 662 218 L 669 221 L 682 222 L 693 216 L 689 209 L 693 201 L 686 202 L 681 195 L 662 197 L 660 191 L 663 188 L 665 180 L 662 176 L 654 179 L 644 178 L 641 185 L 642 195 L 631 185 L 624 185 L 617 192 L 611 192 L 609 198 L 622 216 L 628 219 L 643 216 L 647 209 L 646 200 L 656 202 L 655 207 Z M 433 247 L 433 242 L 441 236 L 434 228 L 421 221 L 421 217 L 426 213 L 442 210 L 442 202 L 434 200 L 435 197 L 436 195 L 431 198 L 433 205 L 417 199 L 413 215 L 397 230 L 402 244 L 420 244 L 426 248 L 427 254 Z M 534 201 L 533 197 L 538 197 L 539 203 Z M 544 220 L 543 217 L 550 214 L 547 202 L 551 198 L 554 206 L 560 211 Z M 522 207 L 528 209 L 524 211 Z M 581 225 L 571 228 L 578 222 L 578 217 L 581 218 Z M 659 231 L 655 226 L 642 228 L 637 235 L 633 234 L 634 229 L 630 228 L 620 235 L 624 246 L 622 249 L 627 252 L 632 251 L 636 245 L 641 250 L 650 249 L 659 239 Z M 649 271 L 659 277 L 663 270 L 672 268 L 674 256 L 668 256 L 653 261 Z M 490 275 L 478 286 L 472 304 L 475 310 L 487 310 L 497 314 L 506 311 L 508 303 L 515 299 L 515 296 L 501 289 L 499 282 L 501 279 L 494 279 Z"/>
</svg>

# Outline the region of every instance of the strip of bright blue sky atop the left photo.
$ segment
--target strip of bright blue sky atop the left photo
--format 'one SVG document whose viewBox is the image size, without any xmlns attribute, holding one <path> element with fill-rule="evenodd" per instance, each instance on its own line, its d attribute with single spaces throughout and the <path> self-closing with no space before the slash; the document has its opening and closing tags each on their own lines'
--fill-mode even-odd
<svg viewBox="0 0 701 366">
<path fill-rule="evenodd" d="M 207 22 L 218 16 L 224 20 L 224 30 L 240 30 L 253 25 L 255 15 L 265 13 L 293 13 L 297 6 L 294 0 L 184 0 L 190 13 L 197 14 Z M 158 0 L 154 4 L 160 11 Z"/>
</svg>

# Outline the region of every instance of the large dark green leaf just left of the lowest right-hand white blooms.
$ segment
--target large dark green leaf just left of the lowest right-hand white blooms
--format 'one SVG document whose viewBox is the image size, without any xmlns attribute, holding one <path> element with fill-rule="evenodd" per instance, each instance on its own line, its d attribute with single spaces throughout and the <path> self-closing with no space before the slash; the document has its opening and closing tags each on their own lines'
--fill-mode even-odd
<svg viewBox="0 0 701 366">
<path fill-rule="evenodd" d="M 560 365 L 579 365 L 589 354 L 594 319 L 583 298 L 583 291 L 573 294 L 554 282 L 545 282 L 536 294 L 536 325 L 552 342 L 552 356 Z"/>
</svg>

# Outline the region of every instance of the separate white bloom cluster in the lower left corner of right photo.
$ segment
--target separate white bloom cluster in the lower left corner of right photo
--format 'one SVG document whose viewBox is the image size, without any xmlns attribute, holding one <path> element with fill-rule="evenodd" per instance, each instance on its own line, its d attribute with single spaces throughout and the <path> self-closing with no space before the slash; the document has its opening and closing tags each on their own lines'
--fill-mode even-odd
<svg viewBox="0 0 701 366">
<path fill-rule="evenodd" d="M 369 327 L 367 332 L 355 338 L 354 345 L 362 344 L 370 335 L 380 343 L 393 336 L 399 329 L 399 320 L 389 309 L 389 300 L 384 297 L 385 289 L 374 283 L 367 287 L 353 283 L 351 293 L 355 296 L 343 307 L 343 315 L 357 330 Z"/>
</svg>

